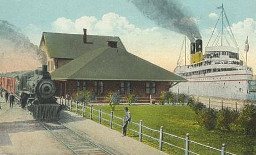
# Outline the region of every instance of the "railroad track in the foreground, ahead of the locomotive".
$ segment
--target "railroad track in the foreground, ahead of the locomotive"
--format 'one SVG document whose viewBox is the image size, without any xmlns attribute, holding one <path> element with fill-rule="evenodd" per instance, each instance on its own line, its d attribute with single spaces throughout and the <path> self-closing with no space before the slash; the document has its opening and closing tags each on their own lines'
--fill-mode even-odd
<svg viewBox="0 0 256 155">
<path fill-rule="evenodd" d="M 74 154 L 113 154 L 86 137 L 64 126 L 59 121 L 40 121 L 41 125 L 52 133 Z"/>
</svg>

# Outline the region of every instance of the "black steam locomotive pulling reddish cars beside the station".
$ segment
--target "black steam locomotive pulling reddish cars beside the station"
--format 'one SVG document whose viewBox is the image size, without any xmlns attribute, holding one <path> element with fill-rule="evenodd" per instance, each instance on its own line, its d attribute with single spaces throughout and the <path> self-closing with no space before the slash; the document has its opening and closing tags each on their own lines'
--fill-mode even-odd
<svg viewBox="0 0 256 155">
<path fill-rule="evenodd" d="M 47 71 L 47 65 L 30 71 L 16 71 L 0 75 L 2 91 L 13 93 L 37 120 L 51 120 L 61 115 L 62 106 L 57 103 L 56 86 Z"/>
</svg>

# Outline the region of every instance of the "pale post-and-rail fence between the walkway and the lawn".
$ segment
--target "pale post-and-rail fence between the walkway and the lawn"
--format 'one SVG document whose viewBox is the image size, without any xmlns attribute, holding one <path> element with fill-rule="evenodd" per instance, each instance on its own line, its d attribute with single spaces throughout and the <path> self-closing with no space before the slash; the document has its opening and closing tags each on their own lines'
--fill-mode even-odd
<svg viewBox="0 0 256 155">
<path fill-rule="evenodd" d="M 99 110 L 96 110 L 93 108 L 93 105 L 85 106 L 84 104 L 79 104 L 78 102 L 72 102 L 72 100 L 66 100 L 59 99 L 59 104 L 62 104 L 65 106 L 66 110 L 74 111 L 77 113 L 77 115 L 82 115 L 83 117 L 89 117 L 91 120 L 98 120 L 98 123 L 102 123 L 102 121 L 106 122 L 106 124 L 109 124 L 110 128 L 123 127 L 123 118 L 114 116 L 114 112 L 112 111 L 110 114 L 105 113 L 100 108 Z M 73 110 L 73 108 L 76 108 Z M 88 112 L 89 111 L 89 112 Z M 138 128 L 136 130 L 135 128 Z M 210 149 L 211 151 L 215 151 L 215 154 L 231 154 L 233 153 L 225 151 L 225 144 L 222 144 L 222 147 L 220 149 L 210 147 L 198 142 L 194 142 L 189 140 L 189 134 L 185 135 L 185 138 L 178 137 L 175 135 L 172 135 L 170 133 L 164 132 L 163 126 L 160 127 L 159 130 L 152 129 L 150 127 L 144 126 L 143 121 L 140 120 L 139 123 L 136 122 L 130 122 L 130 126 L 128 127 L 128 131 L 134 132 L 138 136 L 138 141 L 142 142 L 143 139 L 147 140 L 149 138 L 149 141 L 153 141 L 153 143 L 158 143 L 158 148 L 160 151 L 163 151 L 163 145 L 167 146 L 167 148 L 175 148 L 175 150 L 178 150 L 181 152 L 180 154 L 199 154 L 196 153 L 193 149 L 190 148 L 190 146 L 197 145 L 197 147 L 204 148 L 205 151 Z M 184 147 L 185 146 L 185 147 Z M 166 148 L 166 147 L 165 147 Z M 204 152 L 205 154 L 205 152 Z"/>
</svg>

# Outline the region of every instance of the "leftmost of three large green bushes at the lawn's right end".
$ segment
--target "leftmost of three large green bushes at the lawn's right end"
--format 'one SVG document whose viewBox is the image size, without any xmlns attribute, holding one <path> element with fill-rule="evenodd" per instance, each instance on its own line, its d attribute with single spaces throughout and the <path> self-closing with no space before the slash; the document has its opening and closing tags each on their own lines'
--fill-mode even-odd
<svg viewBox="0 0 256 155">
<path fill-rule="evenodd" d="M 214 129 L 216 126 L 216 115 L 217 111 L 214 111 L 212 108 L 203 108 L 197 115 L 197 121 L 201 127 L 205 127 L 208 130 Z"/>
</svg>

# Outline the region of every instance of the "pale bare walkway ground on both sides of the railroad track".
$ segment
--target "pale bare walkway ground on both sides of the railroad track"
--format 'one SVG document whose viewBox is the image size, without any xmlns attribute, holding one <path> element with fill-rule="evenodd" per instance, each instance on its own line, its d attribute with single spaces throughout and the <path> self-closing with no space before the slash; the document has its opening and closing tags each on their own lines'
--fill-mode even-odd
<svg viewBox="0 0 256 155">
<path fill-rule="evenodd" d="M 1 97 L 0 105 L 0 154 L 72 154 L 28 111 L 17 104 L 9 108 Z M 113 154 L 166 154 L 69 111 L 62 112 L 60 121 Z"/>
</svg>

